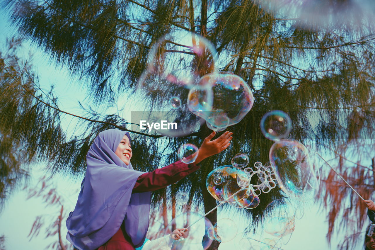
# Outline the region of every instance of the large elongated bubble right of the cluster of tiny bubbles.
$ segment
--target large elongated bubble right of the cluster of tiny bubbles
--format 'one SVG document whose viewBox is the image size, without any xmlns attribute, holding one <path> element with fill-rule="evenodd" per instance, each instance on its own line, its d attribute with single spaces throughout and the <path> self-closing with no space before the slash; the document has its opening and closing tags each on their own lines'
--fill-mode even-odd
<svg viewBox="0 0 375 250">
<path fill-rule="evenodd" d="M 280 188 L 298 200 L 312 199 L 318 182 L 305 146 L 294 140 L 275 142 L 270 149 L 270 162 Z"/>
</svg>

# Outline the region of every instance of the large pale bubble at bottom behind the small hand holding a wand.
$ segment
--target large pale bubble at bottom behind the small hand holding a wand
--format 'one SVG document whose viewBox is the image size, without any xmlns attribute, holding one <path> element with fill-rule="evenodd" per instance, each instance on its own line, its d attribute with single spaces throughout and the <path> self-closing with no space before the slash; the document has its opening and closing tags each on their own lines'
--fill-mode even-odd
<svg viewBox="0 0 375 250">
<path fill-rule="evenodd" d="M 196 223 L 194 223 L 196 222 Z M 212 243 L 212 239 L 208 237 L 208 229 L 212 227 L 212 223 L 207 218 L 202 218 L 202 215 L 187 212 L 176 216 L 165 227 L 164 234 L 168 235 L 176 228 L 186 228 L 186 225 L 191 225 L 187 232 L 185 232 L 184 239 L 173 240 L 171 249 L 207 249 Z"/>
</svg>

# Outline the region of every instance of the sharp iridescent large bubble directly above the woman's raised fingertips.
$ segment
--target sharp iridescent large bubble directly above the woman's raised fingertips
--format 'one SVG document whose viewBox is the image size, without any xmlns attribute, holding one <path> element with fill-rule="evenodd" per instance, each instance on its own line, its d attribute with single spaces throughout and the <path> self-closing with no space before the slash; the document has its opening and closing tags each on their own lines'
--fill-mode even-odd
<svg viewBox="0 0 375 250">
<path fill-rule="evenodd" d="M 204 75 L 198 85 L 190 89 L 187 98 L 187 106 L 192 113 L 207 121 L 211 117 L 228 117 L 228 126 L 240 122 L 253 103 L 254 96 L 248 84 L 229 72 Z"/>
</svg>

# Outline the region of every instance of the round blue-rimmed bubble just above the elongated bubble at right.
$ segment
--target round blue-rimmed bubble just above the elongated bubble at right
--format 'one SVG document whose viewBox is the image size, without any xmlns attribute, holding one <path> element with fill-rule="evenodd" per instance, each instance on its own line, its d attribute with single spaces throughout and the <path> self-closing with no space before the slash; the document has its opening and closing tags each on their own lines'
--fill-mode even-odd
<svg viewBox="0 0 375 250">
<path fill-rule="evenodd" d="M 266 113 L 260 122 L 262 133 L 267 139 L 279 141 L 288 136 L 292 121 L 287 113 L 274 110 Z"/>
</svg>

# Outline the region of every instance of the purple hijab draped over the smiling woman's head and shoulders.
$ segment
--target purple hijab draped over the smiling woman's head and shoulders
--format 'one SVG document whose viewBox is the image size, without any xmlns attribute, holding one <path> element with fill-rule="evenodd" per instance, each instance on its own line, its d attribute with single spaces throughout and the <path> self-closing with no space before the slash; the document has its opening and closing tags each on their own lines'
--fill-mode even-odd
<svg viewBox="0 0 375 250">
<path fill-rule="evenodd" d="M 95 138 L 87 152 L 86 175 L 77 205 L 66 220 L 66 239 L 82 250 L 93 250 L 107 242 L 125 223 L 135 247 L 141 246 L 148 230 L 151 192 L 133 193 L 138 176 L 115 155 L 128 132 L 110 129 Z"/>
</svg>

